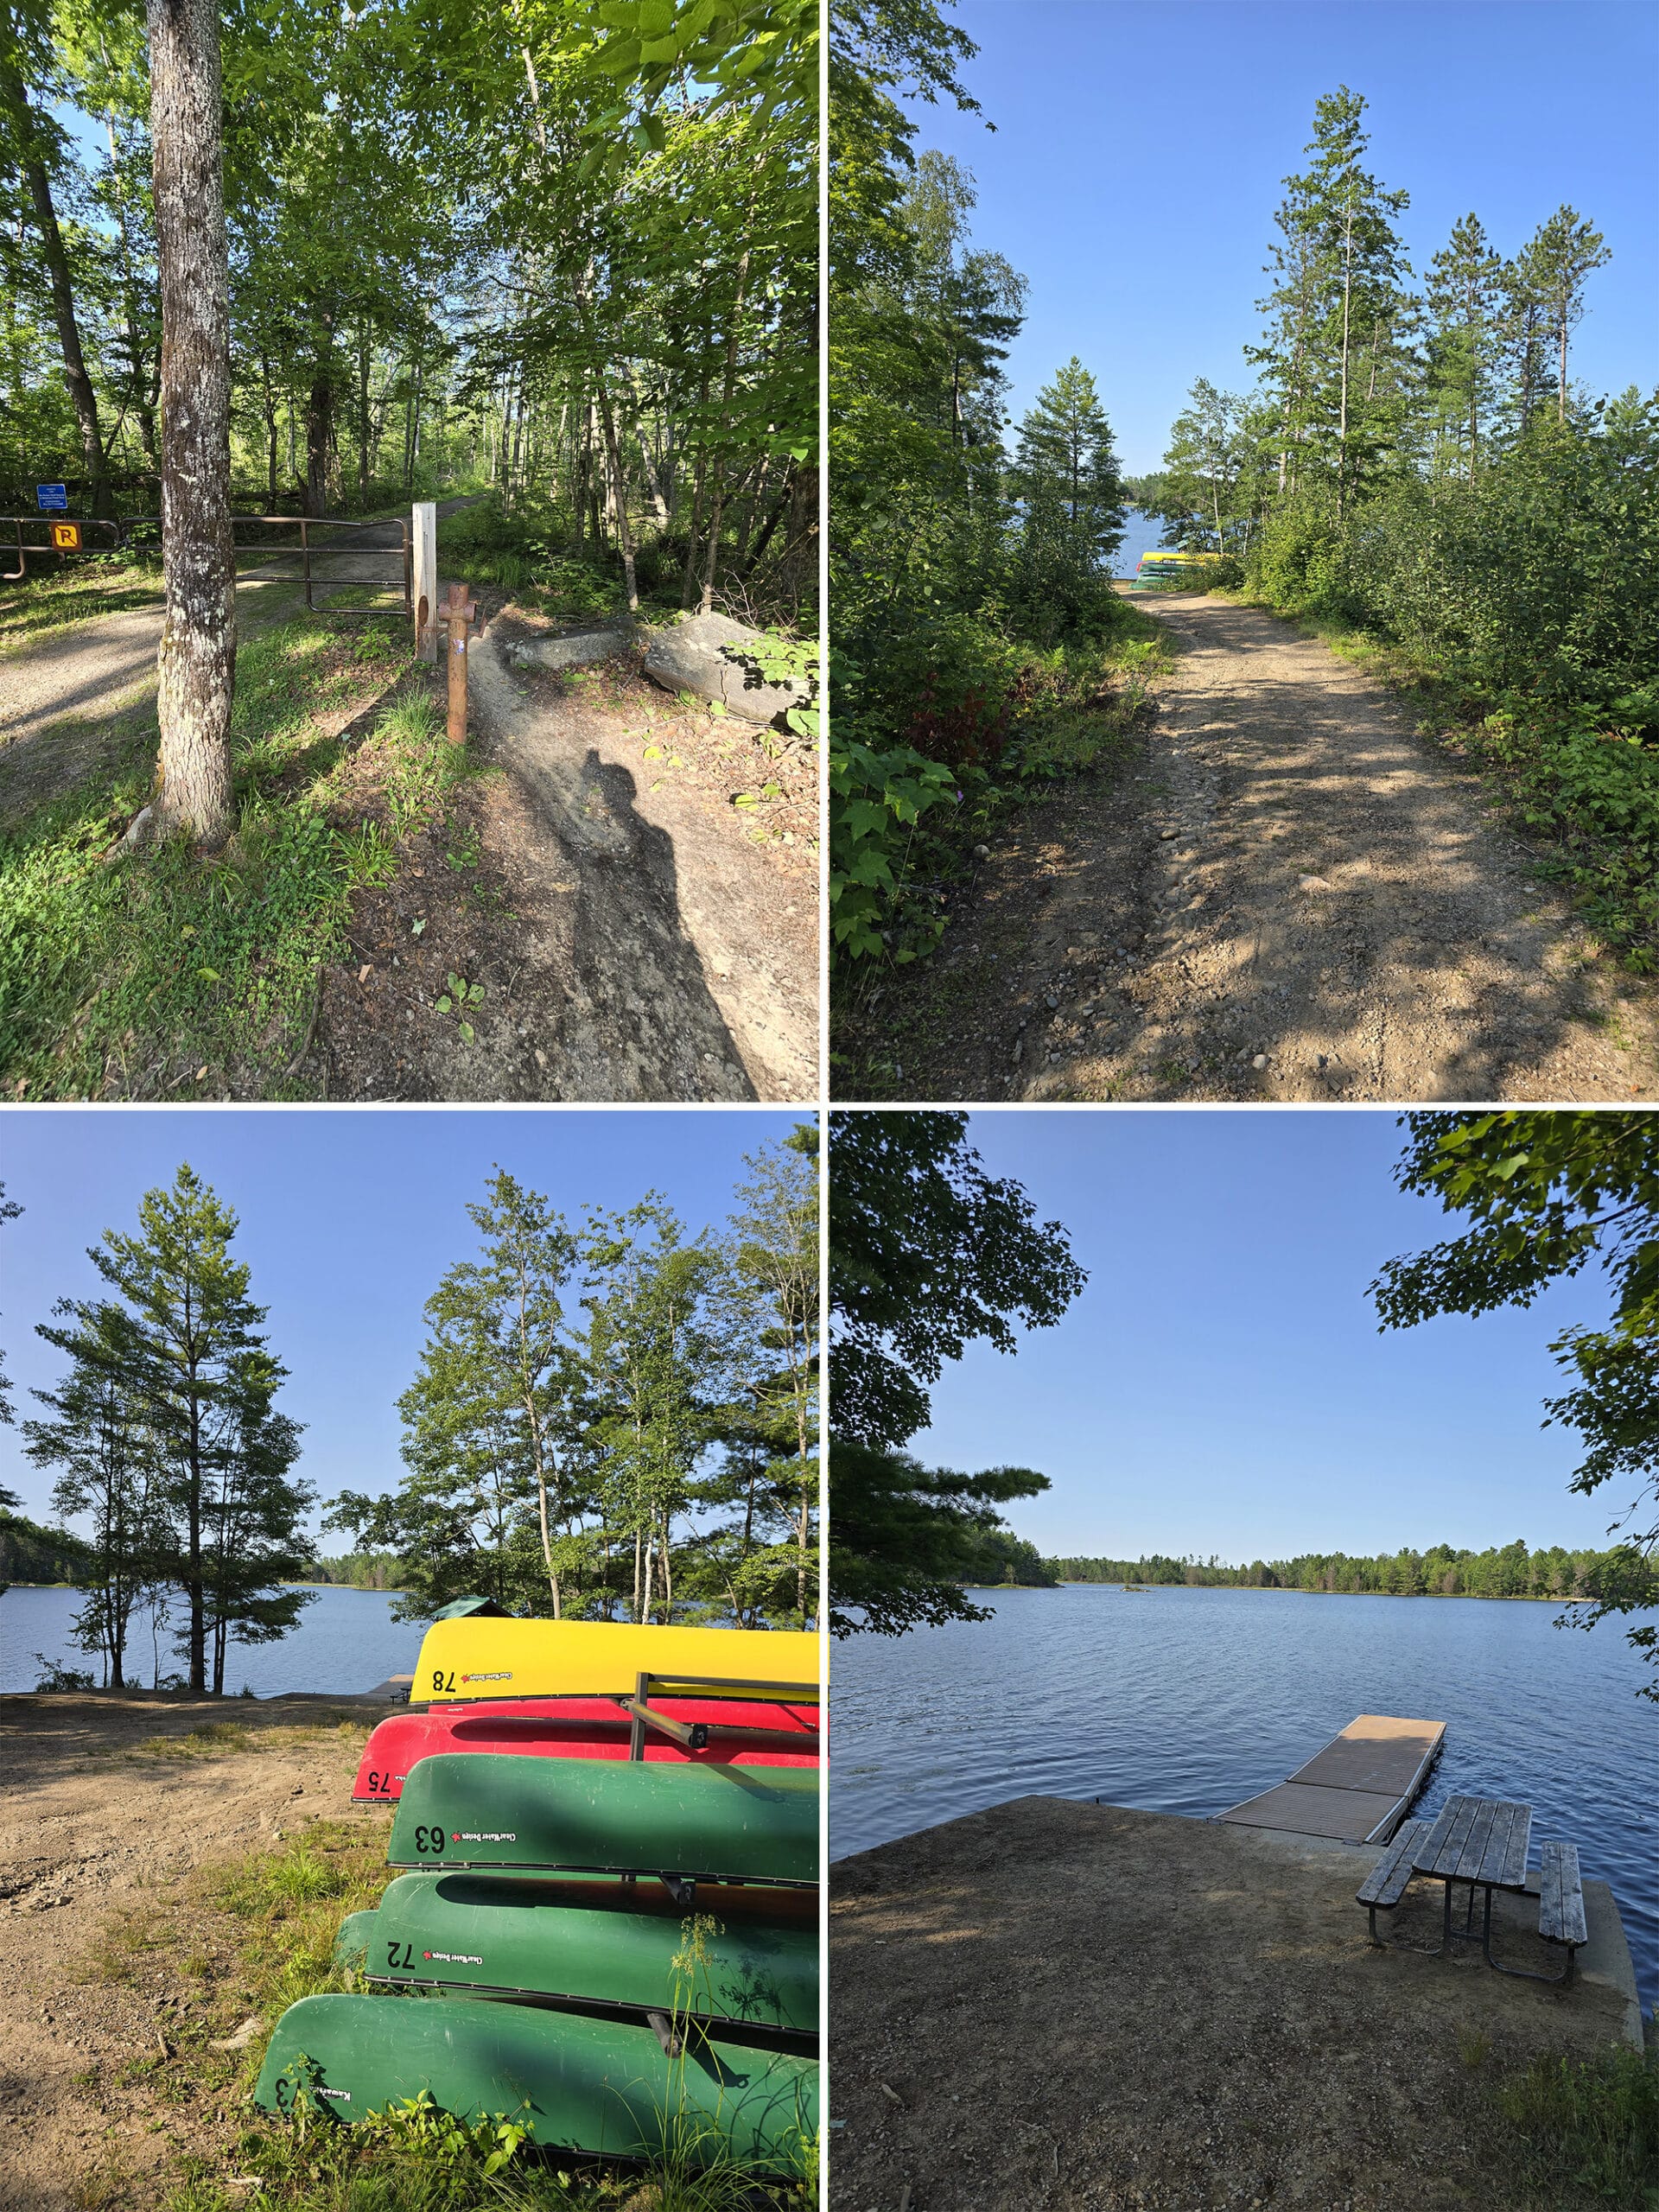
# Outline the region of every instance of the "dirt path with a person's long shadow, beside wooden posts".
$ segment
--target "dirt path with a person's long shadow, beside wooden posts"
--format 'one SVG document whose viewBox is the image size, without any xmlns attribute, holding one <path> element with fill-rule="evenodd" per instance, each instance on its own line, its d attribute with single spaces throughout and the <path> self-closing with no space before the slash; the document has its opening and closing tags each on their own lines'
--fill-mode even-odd
<svg viewBox="0 0 1659 2212">
<path fill-rule="evenodd" d="M 812 759 L 768 761 L 630 657 L 580 688 L 511 670 L 500 648 L 524 628 L 498 615 L 471 653 L 471 743 L 502 774 L 462 785 L 392 889 L 358 900 L 307 1073 L 352 1099 L 810 1099 Z M 787 845 L 757 845 L 732 805 L 768 779 Z M 484 993 L 471 1042 L 434 1013 L 449 973 Z"/>
</svg>

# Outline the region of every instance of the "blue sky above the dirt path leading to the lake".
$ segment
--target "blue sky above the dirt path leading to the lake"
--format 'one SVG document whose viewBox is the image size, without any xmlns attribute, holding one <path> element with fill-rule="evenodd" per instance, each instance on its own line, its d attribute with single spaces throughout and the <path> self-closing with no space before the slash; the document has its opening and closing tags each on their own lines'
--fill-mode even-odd
<svg viewBox="0 0 1659 2212">
<path fill-rule="evenodd" d="M 1659 9 L 1652 0 L 960 0 L 982 117 L 916 104 L 918 146 L 978 177 L 975 243 L 1031 279 L 1015 418 L 1077 354 L 1130 471 L 1194 376 L 1243 392 L 1281 179 L 1314 102 L 1369 102 L 1413 270 L 1475 210 L 1513 254 L 1568 201 L 1613 248 L 1571 367 L 1659 378 Z M 995 124 L 995 135 L 984 124 Z"/>
</svg>

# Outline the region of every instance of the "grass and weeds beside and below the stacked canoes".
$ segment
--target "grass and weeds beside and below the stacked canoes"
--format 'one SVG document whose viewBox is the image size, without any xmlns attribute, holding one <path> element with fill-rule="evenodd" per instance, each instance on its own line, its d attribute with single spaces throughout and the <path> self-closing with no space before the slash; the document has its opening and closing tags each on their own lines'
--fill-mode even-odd
<svg viewBox="0 0 1659 2212">
<path fill-rule="evenodd" d="M 299 1836 L 199 1876 L 199 1896 L 223 1916 L 217 1944 L 219 1995 L 252 2008 L 261 2035 L 234 2059 L 204 2037 L 192 2073 L 246 2115 L 234 2148 L 190 2154 L 164 2212 L 807 2212 L 816 2188 L 794 2188 L 734 2166 L 699 2168 L 692 2146 L 672 2148 L 657 2170 L 538 2150 L 513 2115 L 467 2124 L 418 2095 L 356 2124 L 338 2121 L 316 2099 L 294 2119 L 252 2110 L 268 2031 L 301 1997 L 361 1991 L 334 1962 L 347 1913 L 378 1902 L 385 1865 L 383 1820 L 314 1820 Z M 223 1955 L 228 1953 L 228 1955 Z M 418 2004 L 420 1997 L 398 2002 Z M 221 2006 L 223 2008 L 223 2006 Z M 254 2183 L 254 2192 L 250 2192 Z"/>
</svg>

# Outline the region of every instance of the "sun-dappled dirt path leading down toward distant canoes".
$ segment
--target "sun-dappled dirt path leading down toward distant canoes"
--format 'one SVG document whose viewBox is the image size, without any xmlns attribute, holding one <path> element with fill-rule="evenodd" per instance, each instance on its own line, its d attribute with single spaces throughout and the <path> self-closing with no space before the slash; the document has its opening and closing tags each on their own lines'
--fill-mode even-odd
<svg viewBox="0 0 1659 2212">
<path fill-rule="evenodd" d="M 1256 608 L 1141 604 L 1181 646 L 1141 759 L 1011 823 L 894 989 L 891 1095 L 1659 1095 L 1652 989 L 1402 706 Z"/>
</svg>

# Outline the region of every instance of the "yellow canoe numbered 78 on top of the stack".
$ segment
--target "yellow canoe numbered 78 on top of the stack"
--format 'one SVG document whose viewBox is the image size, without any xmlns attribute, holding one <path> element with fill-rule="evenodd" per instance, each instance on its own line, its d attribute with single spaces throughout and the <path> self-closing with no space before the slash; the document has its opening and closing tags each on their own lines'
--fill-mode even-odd
<svg viewBox="0 0 1659 2212">
<path fill-rule="evenodd" d="M 420 1641 L 414 1705 L 493 1697 L 633 1697 L 723 1683 L 732 1697 L 816 1699 L 818 1639 L 787 1628 L 637 1628 L 630 1621 L 434 1621 Z M 719 1697 L 710 1688 L 710 1697 Z"/>
</svg>

